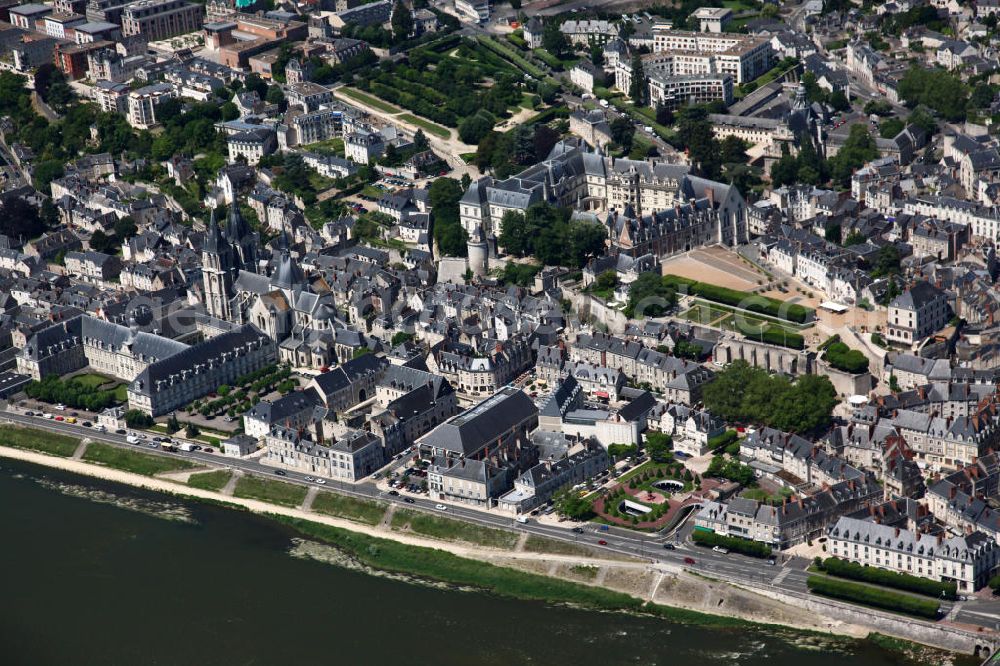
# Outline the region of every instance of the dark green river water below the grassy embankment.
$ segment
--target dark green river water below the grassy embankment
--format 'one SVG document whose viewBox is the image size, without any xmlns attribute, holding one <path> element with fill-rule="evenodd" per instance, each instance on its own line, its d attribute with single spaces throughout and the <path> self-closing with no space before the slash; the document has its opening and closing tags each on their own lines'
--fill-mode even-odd
<svg viewBox="0 0 1000 666">
<path fill-rule="evenodd" d="M 292 557 L 261 517 L 6 459 L 0 516 L 5 666 L 903 663 L 374 577 Z"/>
</svg>

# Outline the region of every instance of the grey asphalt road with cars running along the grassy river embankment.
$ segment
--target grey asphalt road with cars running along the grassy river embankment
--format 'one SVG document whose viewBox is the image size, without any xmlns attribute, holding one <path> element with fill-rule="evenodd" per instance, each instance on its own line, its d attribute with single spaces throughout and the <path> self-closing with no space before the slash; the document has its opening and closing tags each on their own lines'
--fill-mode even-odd
<svg viewBox="0 0 1000 666">
<path fill-rule="evenodd" d="M 57 432 L 81 439 L 86 438 L 92 442 L 104 442 L 128 449 L 141 449 L 151 455 L 183 458 L 205 466 L 239 470 L 247 474 L 275 478 L 273 467 L 262 465 L 256 460 L 223 458 L 219 455 L 201 451 L 167 452 L 146 446 L 137 446 L 129 444 L 125 439 L 125 435 L 119 435 L 114 432 L 100 432 L 94 428 L 87 428 L 79 424 L 27 416 L 16 411 L 15 408 L 9 405 L 4 407 L 3 416 L 10 423 Z M 183 441 L 182 438 L 176 436 L 174 439 Z M 304 474 L 292 471 L 286 471 L 286 476 L 281 477 L 281 480 L 309 487 L 316 486 L 315 483 L 307 481 Z M 378 499 L 382 502 L 394 503 L 407 508 L 417 508 L 429 513 L 442 513 L 435 509 L 435 505 L 439 504 L 437 501 L 407 494 L 406 497 L 412 500 L 412 502 L 407 502 L 403 496 L 389 495 L 387 492 L 381 491 L 370 479 L 356 484 L 327 481 L 327 484 L 323 488 L 324 490 L 352 497 Z M 598 551 L 638 557 L 649 560 L 651 563 L 662 563 L 677 569 L 683 568 L 709 577 L 715 574 L 720 578 L 735 582 L 744 582 L 755 586 L 770 586 L 776 588 L 778 591 L 790 591 L 800 594 L 808 592 L 806 588 L 806 579 L 809 576 L 807 568 L 810 564 L 808 560 L 801 557 L 779 557 L 776 564 L 770 566 L 759 559 L 736 553 L 723 555 L 715 553 L 708 548 L 695 546 L 689 540 L 691 533 L 690 516 L 670 536 L 645 536 L 614 526 L 596 526 L 590 524 L 584 526 L 584 531 L 580 534 L 574 532 L 571 526 L 546 525 L 534 521 L 518 523 L 508 516 L 455 504 L 448 505 L 445 515 L 449 518 L 488 527 L 515 532 L 528 532 L 550 539 L 581 543 Z M 602 540 L 606 542 L 606 545 L 598 543 L 598 541 Z M 676 549 L 665 549 L 664 544 L 668 542 L 676 542 L 678 544 Z M 685 558 L 691 558 L 695 563 L 685 564 Z M 969 598 L 967 601 L 954 603 L 946 601 L 942 603 L 941 611 L 943 617 L 951 622 L 1000 630 L 1000 600 Z"/>
</svg>

